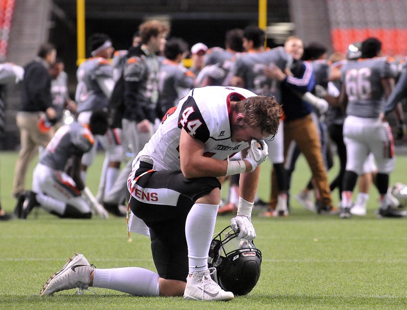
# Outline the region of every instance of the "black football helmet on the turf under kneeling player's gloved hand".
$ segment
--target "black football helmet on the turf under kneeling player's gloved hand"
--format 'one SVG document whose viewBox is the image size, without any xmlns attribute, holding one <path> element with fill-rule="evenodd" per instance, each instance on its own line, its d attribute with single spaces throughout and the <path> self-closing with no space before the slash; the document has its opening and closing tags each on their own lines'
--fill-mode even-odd
<svg viewBox="0 0 407 310">
<path fill-rule="evenodd" d="M 253 241 L 237 240 L 230 226 L 224 228 L 212 240 L 208 265 L 215 267 L 213 280 L 235 295 L 246 295 L 260 277 L 261 252 Z"/>
</svg>

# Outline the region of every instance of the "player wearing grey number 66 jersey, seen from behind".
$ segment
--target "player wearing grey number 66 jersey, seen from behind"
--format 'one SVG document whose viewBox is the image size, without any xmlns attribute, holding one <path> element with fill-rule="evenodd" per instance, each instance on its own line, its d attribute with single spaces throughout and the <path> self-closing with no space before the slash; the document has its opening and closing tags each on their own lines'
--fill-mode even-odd
<svg viewBox="0 0 407 310">
<path fill-rule="evenodd" d="M 342 67 L 339 101 L 346 106 L 343 136 L 346 144 L 346 171 L 343 176 L 339 217 L 351 217 L 352 196 L 358 175 L 370 152 L 377 162 L 376 187 L 379 191 L 379 216 L 402 217 L 387 195 L 389 174 L 395 163 L 394 141 L 389 123 L 383 118 L 383 97 L 394 87 L 393 73 L 386 57 L 380 55 L 382 43 L 376 38 L 362 42 L 361 58 Z"/>
</svg>

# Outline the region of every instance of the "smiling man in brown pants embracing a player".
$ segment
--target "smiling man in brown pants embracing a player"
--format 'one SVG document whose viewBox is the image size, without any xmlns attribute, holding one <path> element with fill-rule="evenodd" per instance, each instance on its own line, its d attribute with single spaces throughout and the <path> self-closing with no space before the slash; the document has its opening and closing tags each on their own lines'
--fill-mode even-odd
<svg viewBox="0 0 407 310">
<path fill-rule="evenodd" d="M 277 66 L 269 68 L 265 74 L 269 78 L 281 81 L 282 109 L 284 112 L 284 159 L 289 161 L 289 149 L 295 141 L 304 154 L 312 172 L 314 187 L 319 197 L 316 201 L 318 213 L 335 213 L 337 208 L 332 206 L 332 195 L 329 189 L 327 171 L 322 157 L 319 135 L 312 121 L 312 105 L 301 97 L 312 91 L 315 78 L 311 64 L 301 61 L 304 45 L 300 38 L 289 37 L 285 42 L 285 50 L 294 58 L 294 64 L 287 72 L 282 72 Z M 273 172 L 272 178 L 275 178 Z M 272 184 L 275 182 L 272 179 Z M 277 203 L 278 190 L 272 185 L 271 207 Z"/>
</svg>

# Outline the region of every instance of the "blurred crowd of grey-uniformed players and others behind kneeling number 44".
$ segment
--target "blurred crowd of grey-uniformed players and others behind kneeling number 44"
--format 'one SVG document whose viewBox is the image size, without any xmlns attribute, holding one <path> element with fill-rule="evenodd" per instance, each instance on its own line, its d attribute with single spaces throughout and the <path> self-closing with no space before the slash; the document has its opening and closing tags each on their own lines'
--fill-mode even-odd
<svg viewBox="0 0 407 310">
<path fill-rule="evenodd" d="M 275 96 L 281 104 L 278 134 L 266 141 L 272 163 L 271 189 L 268 202 L 256 202 L 265 208 L 261 216 L 287 216 L 290 194 L 312 212 L 339 214 L 340 218 L 366 215 L 371 184 L 379 191 L 379 216 L 407 216 L 401 209 L 407 205 L 406 187 L 389 185 L 395 156 L 386 121 L 386 116 L 394 113 L 395 138 L 403 139 L 407 126 L 400 101 L 407 96 L 407 67 L 403 58 L 382 55 L 379 40 L 368 38 L 351 44 L 343 54 L 328 56 L 323 44 L 304 46 L 295 36 L 284 46 L 267 48 L 264 31 L 247 26 L 229 30 L 224 48 L 196 43 L 189 49 L 183 39 L 169 36 L 168 26 L 148 21 L 140 25 L 128 50 L 114 51 L 106 34 L 90 36 L 88 47 L 92 57 L 77 70 L 74 100 L 68 93 L 63 61 L 48 57 L 55 54 L 55 48 L 42 46 L 34 60 L 48 69 L 49 79 L 42 91 L 51 96 L 44 96 L 47 98 L 38 110 L 23 107 L 17 121 L 23 115 L 34 124 L 24 137 L 20 128 L 22 139 L 30 141 L 27 135 L 36 130 L 47 138 L 42 137 L 42 142 L 33 139 L 25 157 L 20 152 L 13 188 L 18 218 L 25 219 L 39 206 L 62 218 L 91 218 L 92 214 L 107 218 L 107 212 L 126 216 L 126 182 L 132 160 L 167 111 L 193 87 L 208 85 L 243 87 L 257 95 Z M 187 56 L 191 65 L 185 67 Z M 28 83 L 30 67 L 24 69 L 23 83 Z M 36 145 L 40 160 L 33 190 L 27 191 L 26 167 Z M 85 186 L 86 170 L 99 146 L 105 150 L 105 160 L 94 197 Z M 333 150 L 339 172 L 329 182 Z M 311 179 L 301 193 L 290 193 L 291 176 L 301 153 Z M 358 176 L 359 192 L 353 199 Z M 239 175 L 228 182 L 227 198 L 218 214 L 237 210 Z M 338 206 L 331 194 L 336 188 Z"/>
</svg>

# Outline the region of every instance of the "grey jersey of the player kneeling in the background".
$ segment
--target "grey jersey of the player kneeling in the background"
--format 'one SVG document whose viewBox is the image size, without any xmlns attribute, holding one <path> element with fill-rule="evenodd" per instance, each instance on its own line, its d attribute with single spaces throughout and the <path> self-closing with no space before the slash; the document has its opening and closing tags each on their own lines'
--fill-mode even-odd
<svg viewBox="0 0 407 310">
<path fill-rule="evenodd" d="M 64 170 L 68 159 L 76 154 L 81 156 L 94 144 L 90 129 L 78 122 L 62 126 L 48 143 L 40 163 L 55 170 Z"/>
</svg>

